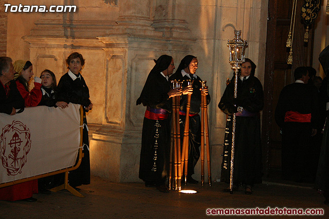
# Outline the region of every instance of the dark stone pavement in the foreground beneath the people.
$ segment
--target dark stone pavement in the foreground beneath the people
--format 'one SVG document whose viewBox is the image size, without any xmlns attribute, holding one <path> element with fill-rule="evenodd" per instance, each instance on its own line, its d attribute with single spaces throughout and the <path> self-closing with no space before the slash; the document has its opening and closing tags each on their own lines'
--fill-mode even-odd
<svg viewBox="0 0 329 219">
<path fill-rule="evenodd" d="M 201 186 L 188 185 L 196 194 L 177 191 L 160 193 L 142 183 L 112 183 L 92 177 L 90 185 L 81 186 L 84 198 L 66 190 L 51 195 L 34 194 L 35 203 L 0 201 L 0 218 L 207 218 L 208 208 L 322 208 L 322 216 L 258 216 L 258 218 L 329 218 L 329 206 L 314 189 L 280 186 L 268 183 L 256 185 L 252 195 L 244 190 L 224 193 L 225 183 Z M 257 216 L 248 216 L 254 218 Z M 211 216 L 223 218 L 223 216 Z M 225 216 L 225 218 L 241 218 Z"/>
</svg>

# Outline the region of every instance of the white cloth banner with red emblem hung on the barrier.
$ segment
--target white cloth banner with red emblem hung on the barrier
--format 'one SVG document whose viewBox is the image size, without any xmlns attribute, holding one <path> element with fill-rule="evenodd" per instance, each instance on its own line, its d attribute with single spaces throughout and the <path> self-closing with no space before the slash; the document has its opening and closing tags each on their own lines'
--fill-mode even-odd
<svg viewBox="0 0 329 219">
<path fill-rule="evenodd" d="M 29 107 L 0 113 L 0 184 L 74 166 L 80 145 L 80 105 Z"/>
</svg>

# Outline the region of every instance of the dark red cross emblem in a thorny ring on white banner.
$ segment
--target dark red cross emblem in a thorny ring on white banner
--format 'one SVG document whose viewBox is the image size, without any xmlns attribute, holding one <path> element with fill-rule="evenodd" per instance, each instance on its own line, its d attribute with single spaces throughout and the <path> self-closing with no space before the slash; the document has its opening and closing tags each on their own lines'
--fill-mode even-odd
<svg viewBox="0 0 329 219">
<path fill-rule="evenodd" d="M 8 175 L 22 172 L 27 162 L 27 154 L 31 149 L 31 134 L 26 125 L 13 121 L 6 125 L 0 135 L 0 158 Z"/>
</svg>

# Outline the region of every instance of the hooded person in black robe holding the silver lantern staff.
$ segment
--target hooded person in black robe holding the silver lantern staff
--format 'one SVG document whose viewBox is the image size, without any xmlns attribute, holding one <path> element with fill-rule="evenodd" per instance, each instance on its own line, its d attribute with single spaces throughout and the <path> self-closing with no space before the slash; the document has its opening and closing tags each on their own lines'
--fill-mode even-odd
<svg viewBox="0 0 329 219">
<path fill-rule="evenodd" d="M 231 115 L 236 113 L 233 190 L 245 185 L 245 193 L 262 182 L 260 111 L 264 106 L 261 82 L 254 76 L 256 65 L 246 58 L 237 81 L 237 98 L 234 97 L 234 77 L 227 85 L 218 107 L 229 116 L 225 135 L 221 181 L 230 181 L 232 143 Z M 239 110 L 238 110 L 239 109 Z M 230 191 L 225 189 L 224 191 Z"/>
</svg>

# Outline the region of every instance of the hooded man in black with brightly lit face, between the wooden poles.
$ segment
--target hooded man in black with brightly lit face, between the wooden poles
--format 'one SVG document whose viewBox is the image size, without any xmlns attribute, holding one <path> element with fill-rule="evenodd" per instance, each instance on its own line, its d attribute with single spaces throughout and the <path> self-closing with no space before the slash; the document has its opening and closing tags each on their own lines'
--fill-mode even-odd
<svg viewBox="0 0 329 219">
<path fill-rule="evenodd" d="M 182 84 L 183 92 L 187 88 L 186 80 L 192 80 L 192 88 L 193 92 L 191 95 L 191 107 L 190 107 L 190 121 L 189 121 L 189 161 L 188 161 L 188 175 L 187 182 L 191 184 L 197 184 L 198 181 L 192 178 L 192 174 L 194 174 L 194 167 L 199 160 L 200 150 L 199 147 L 201 145 L 201 122 L 200 122 L 200 105 L 201 105 L 201 90 L 202 89 L 202 79 L 195 74 L 197 69 L 197 58 L 193 55 L 185 56 L 176 72 L 169 78 L 169 81 L 179 80 L 184 81 Z M 208 87 L 204 89 L 204 92 L 207 94 L 207 105 L 210 103 L 210 95 L 208 93 Z M 187 95 L 181 95 L 180 98 L 180 110 L 179 110 L 179 124 L 180 124 L 180 138 L 184 137 L 184 129 L 185 129 L 185 120 L 186 120 L 186 105 L 187 105 Z M 180 146 L 182 147 L 183 141 L 180 141 Z M 184 180 L 185 177 L 182 177 Z"/>
</svg>

